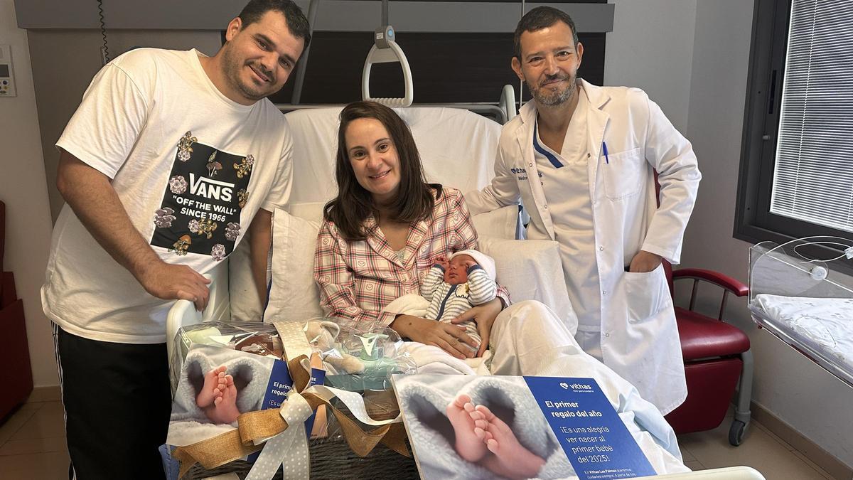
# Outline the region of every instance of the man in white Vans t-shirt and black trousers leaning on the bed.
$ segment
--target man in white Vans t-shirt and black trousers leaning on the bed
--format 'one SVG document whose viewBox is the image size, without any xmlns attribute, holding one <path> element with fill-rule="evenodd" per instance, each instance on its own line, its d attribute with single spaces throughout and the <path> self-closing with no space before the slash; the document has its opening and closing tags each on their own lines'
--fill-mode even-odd
<svg viewBox="0 0 853 480">
<path fill-rule="evenodd" d="M 310 41 L 290 0 L 252 0 L 216 56 L 132 50 L 97 73 L 56 146 L 44 312 L 54 322 L 71 475 L 163 477 L 171 409 L 165 316 L 206 306 L 203 274 L 251 231 L 264 296 L 270 212 L 292 142 L 265 97 Z"/>
</svg>

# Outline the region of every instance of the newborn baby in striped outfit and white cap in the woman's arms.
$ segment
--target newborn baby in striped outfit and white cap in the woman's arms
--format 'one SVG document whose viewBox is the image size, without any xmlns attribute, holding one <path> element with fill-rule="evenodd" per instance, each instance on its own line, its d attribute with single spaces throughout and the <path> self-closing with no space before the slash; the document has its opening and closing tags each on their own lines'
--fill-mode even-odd
<svg viewBox="0 0 853 480">
<path fill-rule="evenodd" d="M 495 260 L 477 250 L 461 250 L 450 259 L 439 257 L 421 283 L 421 296 L 430 301 L 427 319 L 450 323 L 471 307 L 495 298 Z M 473 320 L 461 323 L 468 337 L 477 342 L 482 339 Z M 469 345 L 470 347 L 470 345 Z"/>
</svg>

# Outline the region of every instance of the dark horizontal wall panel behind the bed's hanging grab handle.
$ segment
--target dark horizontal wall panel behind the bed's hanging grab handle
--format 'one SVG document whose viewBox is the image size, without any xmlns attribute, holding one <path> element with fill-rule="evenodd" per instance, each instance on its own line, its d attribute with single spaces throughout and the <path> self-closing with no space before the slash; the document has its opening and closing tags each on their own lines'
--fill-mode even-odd
<svg viewBox="0 0 853 480">
<path fill-rule="evenodd" d="M 604 79 L 604 33 L 581 33 L 585 48 L 578 76 L 601 85 Z M 415 85 L 415 103 L 497 102 L 503 85 L 519 79 L 510 68 L 512 33 L 400 33 Z M 302 103 L 347 103 L 361 100 L 364 58 L 373 37 L 363 32 L 317 32 L 311 46 Z M 374 97 L 403 97 L 403 73 L 397 63 L 376 64 L 370 76 Z M 289 103 L 293 82 L 273 102 Z M 530 94 L 524 92 L 524 98 Z"/>
</svg>

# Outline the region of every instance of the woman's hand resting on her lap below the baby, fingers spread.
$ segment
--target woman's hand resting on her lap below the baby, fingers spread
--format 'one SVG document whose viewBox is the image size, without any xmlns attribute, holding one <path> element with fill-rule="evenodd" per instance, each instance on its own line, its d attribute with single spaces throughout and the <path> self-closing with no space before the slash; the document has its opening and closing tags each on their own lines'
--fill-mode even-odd
<svg viewBox="0 0 853 480">
<path fill-rule="evenodd" d="M 388 326 L 399 333 L 400 337 L 441 348 L 460 360 L 473 357 L 473 349 L 477 348 L 477 342 L 468 337 L 465 327 L 457 325 L 421 319 L 414 315 L 397 315 Z"/>
</svg>

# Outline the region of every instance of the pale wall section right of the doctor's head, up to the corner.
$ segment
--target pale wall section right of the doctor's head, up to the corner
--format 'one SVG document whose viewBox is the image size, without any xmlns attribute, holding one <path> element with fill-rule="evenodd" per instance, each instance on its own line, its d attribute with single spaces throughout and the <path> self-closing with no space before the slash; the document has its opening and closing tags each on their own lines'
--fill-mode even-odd
<svg viewBox="0 0 853 480">
<path fill-rule="evenodd" d="M 687 132 L 696 0 L 611 0 L 605 85 L 641 88 Z"/>
</svg>

